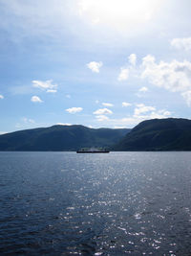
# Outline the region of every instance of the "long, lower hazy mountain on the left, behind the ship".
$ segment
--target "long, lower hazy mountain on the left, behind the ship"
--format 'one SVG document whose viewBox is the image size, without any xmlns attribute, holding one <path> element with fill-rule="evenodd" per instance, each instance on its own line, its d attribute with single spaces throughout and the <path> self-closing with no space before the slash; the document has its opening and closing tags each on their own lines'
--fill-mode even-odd
<svg viewBox="0 0 191 256">
<path fill-rule="evenodd" d="M 76 151 L 81 148 L 108 148 L 128 128 L 86 128 L 53 126 L 32 128 L 0 135 L 0 151 Z"/>
</svg>

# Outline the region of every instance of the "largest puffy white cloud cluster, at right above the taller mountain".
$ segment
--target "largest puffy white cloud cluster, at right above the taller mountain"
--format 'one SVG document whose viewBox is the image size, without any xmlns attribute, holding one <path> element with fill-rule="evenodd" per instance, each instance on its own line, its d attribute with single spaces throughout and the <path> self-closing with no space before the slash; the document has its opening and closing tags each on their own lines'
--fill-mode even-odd
<svg viewBox="0 0 191 256">
<path fill-rule="evenodd" d="M 136 57 L 132 57 L 132 55 L 130 57 L 130 62 L 133 61 L 132 64 L 134 64 Z M 133 66 L 129 69 L 121 68 L 118 81 L 127 80 L 130 72 L 137 79 L 147 79 L 151 84 L 168 91 L 180 92 L 187 105 L 191 106 L 189 96 L 191 91 L 191 61 L 173 59 L 169 62 L 163 60 L 157 62 L 154 56 L 147 55 L 142 58 L 142 63 L 137 68 Z M 143 93 L 147 91 L 148 88 L 143 86 L 138 90 L 137 96 L 142 97 Z"/>
</svg>

